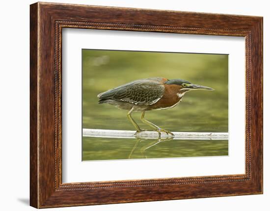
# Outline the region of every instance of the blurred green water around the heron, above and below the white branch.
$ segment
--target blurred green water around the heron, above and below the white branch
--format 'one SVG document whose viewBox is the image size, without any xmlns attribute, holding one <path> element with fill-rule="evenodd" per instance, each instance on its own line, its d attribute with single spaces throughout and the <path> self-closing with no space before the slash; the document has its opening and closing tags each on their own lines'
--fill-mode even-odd
<svg viewBox="0 0 270 211">
<path fill-rule="evenodd" d="M 215 91 L 191 91 L 178 106 L 147 112 L 146 119 L 172 132 L 228 132 L 228 55 L 91 49 L 82 49 L 82 127 L 135 130 L 127 111 L 98 104 L 97 94 L 148 77 L 181 78 Z M 133 113 L 135 121 L 151 130 L 140 115 Z M 83 137 L 82 160 L 128 159 L 136 141 Z M 228 155 L 228 140 L 162 141 L 144 153 L 151 141 L 140 141 L 130 158 Z"/>
</svg>

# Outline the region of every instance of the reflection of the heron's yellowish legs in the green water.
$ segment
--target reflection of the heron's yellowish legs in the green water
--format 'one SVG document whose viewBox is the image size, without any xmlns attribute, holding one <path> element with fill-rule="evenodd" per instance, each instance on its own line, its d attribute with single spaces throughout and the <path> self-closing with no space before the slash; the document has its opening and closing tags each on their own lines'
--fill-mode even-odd
<svg viewBox="0 0 270 211">
<path fill-rule="evenodd" d="M 149 139 L 142 139 L 142 138 L 136 137 L 136 142 L 135 142 L 134 147 L 132 148 L 132 150 L 130 152 L 128 159 L 132 159 L 132 155 L 133 155 L 135 149 L 138 147 L 139 143 L 141 143 L 142 141 L 145 141 L 145 140 L 149 140 Z M 164 141 L 171 141 L 171 140 L 173 140 L 173 137 L 168 137 L 166 139 L 158 138 L 158 139 L 152 139 L 152 140 L 154 140 L 154 141 L 151 141 L 150 143 L 147 143 L 140 148 L 140 152 L 141 152 L 143 158 L 147 158 L 146 150 L 148 150 L 151 147 L 153 147 L 159 143 L 162 143 Z"/>
</svg>

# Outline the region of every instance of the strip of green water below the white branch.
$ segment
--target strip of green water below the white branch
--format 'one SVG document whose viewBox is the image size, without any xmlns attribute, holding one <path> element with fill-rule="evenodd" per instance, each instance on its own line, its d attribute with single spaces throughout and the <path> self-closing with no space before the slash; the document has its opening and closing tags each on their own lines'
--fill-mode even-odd
<svg viewBox="0 0 270 211">
<path fill-rule="evenodd" d="M 228 141 L 83 138 L 83 149 L 84 161 L 226 156 Z"/>
</svg>

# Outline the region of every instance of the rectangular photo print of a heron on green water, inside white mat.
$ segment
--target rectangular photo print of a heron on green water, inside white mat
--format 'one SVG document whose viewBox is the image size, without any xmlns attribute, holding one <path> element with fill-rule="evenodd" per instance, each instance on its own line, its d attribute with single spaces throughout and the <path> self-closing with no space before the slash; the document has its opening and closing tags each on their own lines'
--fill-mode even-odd
<svg viewBox="0 0 270 211">
<path fill-rule="evenodd" d="M 82 161 L 228 156 L 228 55 L 82 49 Z"/>
</svg>

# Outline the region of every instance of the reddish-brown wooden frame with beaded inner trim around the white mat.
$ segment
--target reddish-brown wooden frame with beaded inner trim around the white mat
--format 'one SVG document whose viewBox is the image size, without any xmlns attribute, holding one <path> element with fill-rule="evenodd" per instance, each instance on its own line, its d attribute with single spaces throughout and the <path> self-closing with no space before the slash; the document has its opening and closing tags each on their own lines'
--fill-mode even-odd
<svg viewBox="0 0 270 211">
<path fill-rule="evenodd" d="M 61 32 L 64 27 L 245 37 L 245 174 L 62 183 Z M 30 206 L 51 208 L 262 194 L 262 50 L 262 17 L 31 4 Z"/>
</svg>

